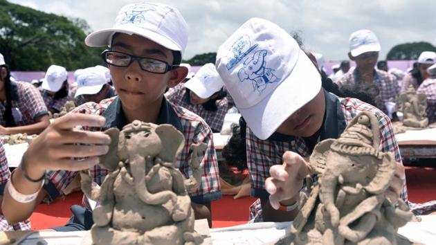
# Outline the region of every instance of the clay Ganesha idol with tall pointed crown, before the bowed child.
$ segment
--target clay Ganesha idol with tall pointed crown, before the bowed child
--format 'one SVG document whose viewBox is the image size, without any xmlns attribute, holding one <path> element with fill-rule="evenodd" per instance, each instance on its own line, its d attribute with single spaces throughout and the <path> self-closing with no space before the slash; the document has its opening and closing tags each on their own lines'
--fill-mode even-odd
<svg viewBox="0 0 436 245">
<path fill-rule="evenodd" d="M 318 143 L 310 165 L 318 174 L 310 194 L 300 192 L 291 233 L 277 244 L 410 244 L 397 234 L 417 221 L 401 199 L 386 198 L 396 170 L 392 152 L 380 152 L 376 116 L 362 112 L 338 139 Z"/>
</svg>

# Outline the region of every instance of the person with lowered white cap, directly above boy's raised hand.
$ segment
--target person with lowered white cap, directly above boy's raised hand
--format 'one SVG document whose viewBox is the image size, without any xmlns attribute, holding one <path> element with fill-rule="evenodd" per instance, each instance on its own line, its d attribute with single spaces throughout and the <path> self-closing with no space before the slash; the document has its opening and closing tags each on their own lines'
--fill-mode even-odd
<svg viewBox="0 0 436 245">
<path fill-rule="evenodd" d="M 65 67 L 52 64 L 46 71 L 41 87 L 38 88 L 51 113 L 60 112 L 65 103 L 71 100 L 67 76 Z"/>
</svg>

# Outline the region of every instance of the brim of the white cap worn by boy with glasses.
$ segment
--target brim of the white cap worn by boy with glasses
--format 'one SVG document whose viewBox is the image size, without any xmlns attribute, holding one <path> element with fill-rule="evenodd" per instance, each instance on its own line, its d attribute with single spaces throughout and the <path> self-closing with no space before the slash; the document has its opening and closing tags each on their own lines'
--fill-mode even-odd
<svg viewBox="0 0 436 245">
<path fill-rule="evenodd" d="M 171 39 L 164 37 L 158 33 L 155 33 L 152 30 L 147 30 L 143 28 L 139 28 L 134 25 L 125 26 L 125 28 L 107 28 L 102 30 L 97 30 L 87 36 L 85 38 L 85 44 L 90 47 L 102 47 L 109 46 L 109 39 L 113 33 L 125 33 L 127 35 L 140 35 L 147 39 L 164 46 L 172 51 L 181 51 L 181 47 L 175 44 Z"/>
</svg>

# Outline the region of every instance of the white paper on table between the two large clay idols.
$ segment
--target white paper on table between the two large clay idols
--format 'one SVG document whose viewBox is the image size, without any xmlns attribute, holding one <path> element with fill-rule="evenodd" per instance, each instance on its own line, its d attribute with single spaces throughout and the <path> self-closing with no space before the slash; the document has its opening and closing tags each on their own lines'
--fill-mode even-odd
<svg viewBox="0 0 436 245">
<path fill-rule="evenodd" d="M 260 222 L 210 229 L 212 244 L 257 245 L 277 241 L 289 233 L 292 222 Z"/>
</svg>

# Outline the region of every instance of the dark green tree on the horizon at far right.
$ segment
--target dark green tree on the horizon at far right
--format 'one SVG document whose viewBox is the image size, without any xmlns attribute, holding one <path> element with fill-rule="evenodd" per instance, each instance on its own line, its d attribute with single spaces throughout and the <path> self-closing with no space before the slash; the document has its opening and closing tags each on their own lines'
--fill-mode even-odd
<svg viewBox="0 0 436 245">
<path fill-rule="evenodd" d="M 436 52 L 436 47 L 428 42 L 398 44 L 390 49 L 386 60 L 417 60 L 423 51 Z"/>
</svg>

